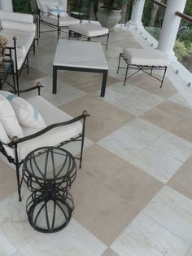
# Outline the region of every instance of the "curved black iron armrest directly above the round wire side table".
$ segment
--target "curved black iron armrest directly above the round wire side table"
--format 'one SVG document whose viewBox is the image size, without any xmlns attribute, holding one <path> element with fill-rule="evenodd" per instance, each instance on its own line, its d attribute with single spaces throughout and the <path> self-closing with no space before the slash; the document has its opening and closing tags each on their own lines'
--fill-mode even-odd
<svg viewBox="0 0 192 256">
<path fill-rule="evenodd" d="M 68 121 L 63 121 L 63 122 L 59 122 L 59 123 L 55 123 L 55 124 L 52 124 L 50 126 L 47 126 L 46 128 L 42 129 L 42 130 L 39 130 L 37 131 L 36 133 L 34 133 L 33 135 L 28 135 L 28 136 L 25 136 L 23 138 L 18 138 L 17 136 L 14 136 L 12 138 L 12 141 L 11 143 L 8 143 L 8 146 L 10 148 L 13 148 L 15 144 L 18 144 L 18 143 L 22 143 L 24 141 L 27 141 L 29 139 L 34 139 L 34 138 L 37 138 L 38 136 L 40 135 L 43 135 L 45 134 L 47 131 L 49 130 L 52 130 L 56 127 L 59 127 L 59 126 L 68 126 L 68 125 L 71 125 L 72 123 L 76 122 L 76 121 L 80 121 L 81 119 L 84 119 L 86 117 L 89 117 L 89 113 L 87 113 L 85 110 L 83 111 L 83 113 L 81 114 L 81 116 L 78 116 L 78 117 L 75 117 L 71 120 L 68 120 Z"/>
</svg>

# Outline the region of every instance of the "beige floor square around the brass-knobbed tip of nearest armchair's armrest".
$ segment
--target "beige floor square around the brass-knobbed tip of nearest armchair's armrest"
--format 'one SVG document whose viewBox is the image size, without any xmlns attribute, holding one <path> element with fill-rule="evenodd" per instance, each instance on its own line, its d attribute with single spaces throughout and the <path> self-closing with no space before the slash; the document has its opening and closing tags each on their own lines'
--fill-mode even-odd
<svg viewBox="0 0 192 256">
<path fill-rule="evenodd" d="M 132 117 L 129 113 L 90 95 L 74 100 L 71 104 L 64 104 L 60 108 L 73 117 L 86 109 L 90 117 L 87 118 L 85 135 L 94 142 L 116 130 Z"/>
</svg>

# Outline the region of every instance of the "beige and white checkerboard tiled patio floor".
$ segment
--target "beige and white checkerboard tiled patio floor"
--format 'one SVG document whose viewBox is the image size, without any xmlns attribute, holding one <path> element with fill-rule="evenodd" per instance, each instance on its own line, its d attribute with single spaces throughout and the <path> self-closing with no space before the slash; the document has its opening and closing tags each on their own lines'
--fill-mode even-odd
<svg viewBox="0 0 192 256">
<path fill-rule="evenodd" d="M 76 207 L 68 227 L 41 234 L 28 224 L 16 193 L 15 171 L 0 161 L 0 255 L 2 256 L 191 256 L 192 110 L 166 77 L 164 86 L 138 73 L 123 86 L 116 73 L 124 46 L 141 48 L 128 31 L 110 35 L 109 77 L 60 72 L 52 95 L 56 38 L 41 35 L 30 73 L 20 87 L 40 81 L 41 95 L 73 117 L 86 109 L 83 166 L 71 193 Z M 32 92 L 30 94 L 35 94 Z M 24 95 L 28 97 L 28 94 Z M 78 148 L 69 146 L 73 154 Z"/>
</svg>

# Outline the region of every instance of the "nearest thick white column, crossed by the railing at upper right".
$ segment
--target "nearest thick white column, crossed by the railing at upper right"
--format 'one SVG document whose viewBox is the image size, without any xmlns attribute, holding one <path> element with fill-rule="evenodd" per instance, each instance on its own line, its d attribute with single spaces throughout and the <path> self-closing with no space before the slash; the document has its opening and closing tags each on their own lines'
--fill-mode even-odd
<svg viewBox="0 0 192 256">
<path fill-rule="evenodd" d="M 181 18 L 175 15 L 176 11 L 183 12 L 186 0 L 168 0 L 164 14 L 164 21 L 160 33 L 158 49 L 163 51 L 170 59 L 174 58 L 173 47 Z"/>
</svg>

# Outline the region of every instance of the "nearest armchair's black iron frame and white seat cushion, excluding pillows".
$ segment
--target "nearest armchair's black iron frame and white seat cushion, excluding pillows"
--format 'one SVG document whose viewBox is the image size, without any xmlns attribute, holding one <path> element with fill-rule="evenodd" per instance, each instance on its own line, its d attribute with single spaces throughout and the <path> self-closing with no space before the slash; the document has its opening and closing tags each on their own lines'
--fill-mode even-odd
<svg viewBox="0 0 192 256">
<path fill-rule="evenodd" d="M 3 143 L 0 141 L 0 152 L 7 157 L 7 160 L 10 163 L 15 165 L 19 201 L 21 201 L 21 185 L 23 181 L 22 176 L 20 179 L 20 167 L 24 163 L 24 158 L 27 154 L 34 149 L 55 145 L 62 147 L 70 142 L 79 142 L 80 156 L 75 158 L 80 161 L 81 168 L 85 140 L 85 119 L 86 117 L 89 117 L 89 114 L 86 111 L 83 111 L 78 117 L 70 117 L 67 113 L 56 108 L 40 96 L 40 83 L 37 83 L 37 86 L 28 90 L 36 88 L 38 89 L 39 95 L 30 97 L 27 101 L 41 114 L 41 117 L 43 117 L 46 122 L 46 128 L 32 129 L 30 127 L 21 126 L 24 132 L 23 138 L 14 136 L 10 143 Z M 20 90 L 20 93 L 28 90 Z M 11 149 L 11 153 L 7 152 L 7 148 Z"/>
</svg>

